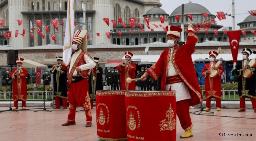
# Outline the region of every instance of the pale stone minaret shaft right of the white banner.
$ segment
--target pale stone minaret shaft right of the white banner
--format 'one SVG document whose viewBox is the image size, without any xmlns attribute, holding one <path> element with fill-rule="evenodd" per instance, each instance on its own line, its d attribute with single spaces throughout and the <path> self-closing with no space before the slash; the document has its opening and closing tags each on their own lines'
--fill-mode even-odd
<svg viewBox="0 0 256 141">
<path fill-rule="evenodd" d="M 93 0 L 93 10 L 96 11 L 93 17 L 93 44 L 99 43 L 111 43 L 111 38 L 106 36 L 107 32 L 113 30 L 111 20 L 113 15 L 113 0 Z M 102 20 L 102 18 L 109 18 L 109 26 Z M 96 33 L 100 33 L 100 36 L 96 36 Z"/>
</svg>

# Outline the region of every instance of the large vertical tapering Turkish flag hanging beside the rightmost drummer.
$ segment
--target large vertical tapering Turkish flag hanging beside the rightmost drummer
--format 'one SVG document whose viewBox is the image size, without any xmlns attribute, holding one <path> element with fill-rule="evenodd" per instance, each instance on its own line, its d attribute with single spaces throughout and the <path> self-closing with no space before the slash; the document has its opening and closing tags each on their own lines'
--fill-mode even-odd
<svg viewBox="0 0 256 141">
<path fill-rule="evenodd" d="M 230 49 L 232 52 L 233 63 L 237 63 L 237 54 L 239 50 L 239 40 L 241 36 L 241 30 L 238 31 L 228 31 L 228 39 L 230 44 Z"/>
</svg>

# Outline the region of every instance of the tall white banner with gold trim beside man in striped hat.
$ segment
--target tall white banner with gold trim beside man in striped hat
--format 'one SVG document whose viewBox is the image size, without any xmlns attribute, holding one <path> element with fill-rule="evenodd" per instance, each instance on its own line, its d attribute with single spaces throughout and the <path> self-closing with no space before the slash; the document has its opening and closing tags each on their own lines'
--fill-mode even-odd
<svg viewBox="0 0 256 141">
<path fill-rule="evenodd" d="M 72 54 L 72 39 L 74 36 L 74 25 L 75 12 L 74 12 L 74 0 L 69 0 L 69 5 L 67 9 L 67 20 L 65 29 L 65 38 L 63 43 L 63 64 L 65 66 L 69 65 Z"/>
</svg>

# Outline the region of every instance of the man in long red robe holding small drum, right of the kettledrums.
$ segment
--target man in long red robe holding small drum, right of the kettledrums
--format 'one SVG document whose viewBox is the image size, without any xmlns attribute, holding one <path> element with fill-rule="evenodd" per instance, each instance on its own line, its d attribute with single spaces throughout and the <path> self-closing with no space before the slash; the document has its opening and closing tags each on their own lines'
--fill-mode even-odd
<svg viewBox="0 0 256 141">
<path fill-rule="evenodd" d="M 206 96 L 206 108 L 205 111 L 211 110 L 211 98 L 216 100 L 217 111 L 221 111 L 221 75 L 223 73 L 222 63 L 219 66 L 216 65 L 216 57 L 218 52 L 210 51 L 210 63 L 204 65 L 202 75 L 205 79 L 205 96 Z"/>
</svg>

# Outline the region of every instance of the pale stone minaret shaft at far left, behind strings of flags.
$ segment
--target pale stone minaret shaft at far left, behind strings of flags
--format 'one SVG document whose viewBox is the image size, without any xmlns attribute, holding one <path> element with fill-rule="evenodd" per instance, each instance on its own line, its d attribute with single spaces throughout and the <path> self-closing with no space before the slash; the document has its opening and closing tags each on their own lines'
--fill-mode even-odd
<svg viewBox="0 0 256 141">
<path fill-rule="evenodd" d="M 9 0 L 9 31 L 11 31 L 11 38 L 9 38 L 9 45 L 11 47 L 28 47 L 29 46 L 29 25 L 28 16 L 21 14 L 21 11 L 28 11 L 28 0 Z M 22 20 L 22 25 L 18 25 L 17 20 Z M 18 34 L 15 38 L 15 31 L 19 30 L 22 33 L 22 29 L 26 29 L 26 33 L 23 36 Z"/>
</svg>

